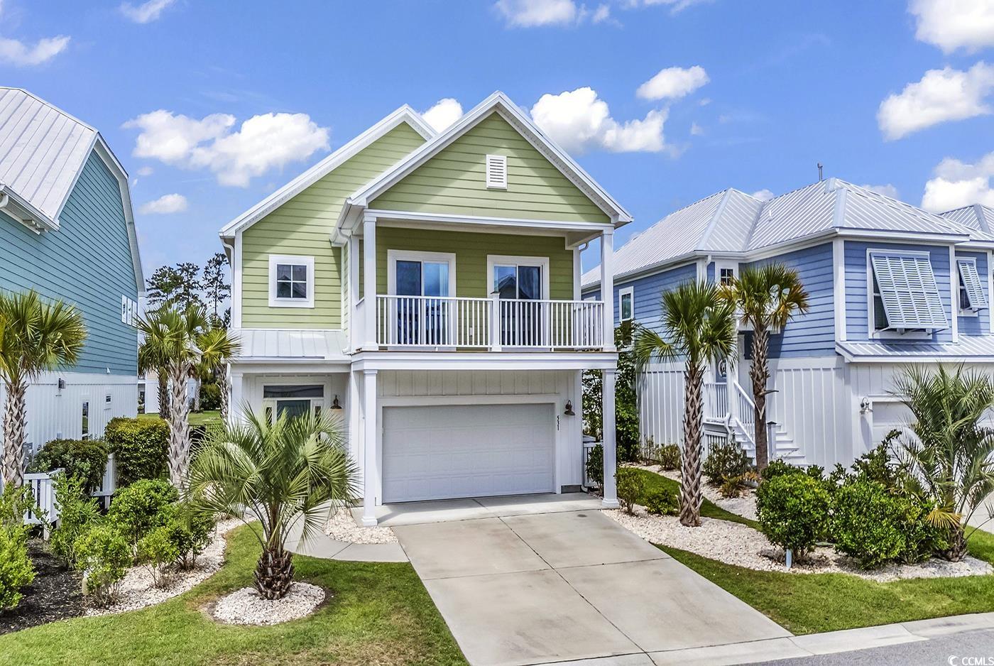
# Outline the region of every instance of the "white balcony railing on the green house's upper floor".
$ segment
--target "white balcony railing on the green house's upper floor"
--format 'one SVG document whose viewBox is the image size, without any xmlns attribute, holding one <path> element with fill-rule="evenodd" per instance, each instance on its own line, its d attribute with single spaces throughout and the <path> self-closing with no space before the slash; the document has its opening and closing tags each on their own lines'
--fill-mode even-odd
<svg viewBox="0 0 994 666">
<path fill-rule="evenodd" d="M 603 303 L 377 296 L 377 344 L 395 348 L 600 349 Z"/>
</svg>

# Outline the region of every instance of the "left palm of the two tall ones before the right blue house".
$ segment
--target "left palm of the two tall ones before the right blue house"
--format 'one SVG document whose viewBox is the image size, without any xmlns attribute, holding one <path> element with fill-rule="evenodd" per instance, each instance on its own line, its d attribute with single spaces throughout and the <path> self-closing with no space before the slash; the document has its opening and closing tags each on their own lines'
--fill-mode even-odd
<svg viewBox="0 0 994 666">
<path fill-rule="evenodd" d="M 663 293 L 663 334 L 643 328 L 635 338 L 639 368 L 653 360 L 685 363 L 680 522 L 688 527 L 701 524 L 704 375 L 709 364 L 733 358 L 735 346 L 735 308 L 720 286 L 704 281 L 684 282 Z"/>
</svg>

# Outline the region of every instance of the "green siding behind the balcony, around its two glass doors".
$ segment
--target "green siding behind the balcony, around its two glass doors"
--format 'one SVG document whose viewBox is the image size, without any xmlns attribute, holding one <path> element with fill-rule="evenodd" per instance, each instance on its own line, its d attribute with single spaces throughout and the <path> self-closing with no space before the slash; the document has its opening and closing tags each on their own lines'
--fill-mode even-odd
<svg viewBox="0 0 994 666">
<path fill-rule="evenodd" d="M 468 297 L 485 297 L 492 290 L 487 255 L 548 256 L 550 298 L 573 299 L 573 250 L 566 250 L 562 237 L 378 227 L 376 245 L 377 293 L 387 293 L 387 250 L 416 250 L 454 253 L 453 295 Z"/>
</svg>

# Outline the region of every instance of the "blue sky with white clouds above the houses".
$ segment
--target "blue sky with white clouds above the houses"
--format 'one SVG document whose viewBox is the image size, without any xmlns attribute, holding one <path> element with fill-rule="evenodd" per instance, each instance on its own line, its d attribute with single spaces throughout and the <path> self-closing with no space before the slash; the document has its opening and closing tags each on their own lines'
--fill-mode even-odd
<svg viewBox="0 0 994 666">
<path fill-rule="evenodd" d="M 932 208 L 994 206 L 994 0 L 2 0 L 0 12 L 0 81 L 102 132 L 131 175 L 149 272 L 203 263 L 224 224 L 401 104 L 468 110 L 495 89 L 634 215 L 621 241 L 726 187 L 810 183 L 819 161 L 915 205 L 928 184 Z"/>
</svg>

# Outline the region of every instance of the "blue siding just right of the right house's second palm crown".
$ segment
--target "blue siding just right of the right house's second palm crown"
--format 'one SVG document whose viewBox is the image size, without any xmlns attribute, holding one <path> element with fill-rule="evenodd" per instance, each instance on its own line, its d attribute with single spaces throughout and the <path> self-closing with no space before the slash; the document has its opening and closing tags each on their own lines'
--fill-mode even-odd
<svg viewBox="0 0 994 666">
<path fill-rule="evenodd" d="M 808 311 L 794 315 L 783 332 L 769 336 L 771 358 L 828 356 L 835 353 L 835 285 L 832 244 L 796 250 L 749 263 L 778 262 L 797 270 L 808 292 Z"/>
</svg>

